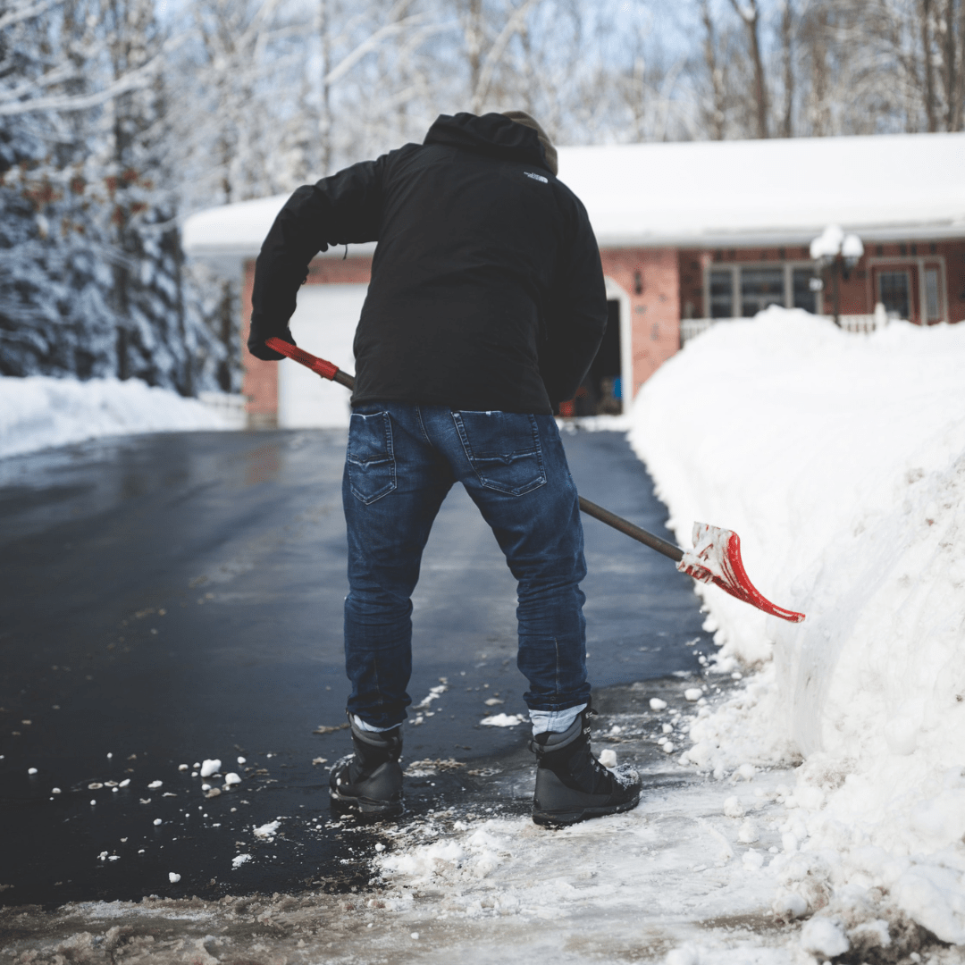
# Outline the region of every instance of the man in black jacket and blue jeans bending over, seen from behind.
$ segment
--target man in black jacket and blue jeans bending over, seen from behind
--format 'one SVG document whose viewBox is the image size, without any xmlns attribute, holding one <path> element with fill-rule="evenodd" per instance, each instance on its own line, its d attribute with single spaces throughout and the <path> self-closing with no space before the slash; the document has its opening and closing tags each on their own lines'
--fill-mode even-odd
<svg viewBox="0 0 965 965">
<path fill-rule="evenodd" d="M 299 188 L 262 246 L 248 341 L 293 343 L 308 264 L 377 241 L 355 335 L 345 460 L 345 670 L 354 754 L 333 803 L 402 812 L 399 764 L 411 673 L 411 594 L 432 521 L 455 482 L 518 581 L 519 669 L 537 756 L 533 817 L 570 824 L 636 806 L 590 748 L 583 530 L 553 418 L 606 327 L 585 208 L 556 179 L 556 150 L 522 112 L 443 115 L 423 145 Z"/>
</svg>

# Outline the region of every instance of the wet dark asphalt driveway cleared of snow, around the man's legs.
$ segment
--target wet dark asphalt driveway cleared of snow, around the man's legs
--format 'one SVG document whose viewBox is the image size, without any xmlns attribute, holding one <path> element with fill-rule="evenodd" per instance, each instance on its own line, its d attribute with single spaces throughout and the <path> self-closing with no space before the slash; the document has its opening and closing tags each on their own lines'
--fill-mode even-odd
<svg viewBox="0 0 965 965">
<path fill-rule="evenodd" d="M 669 536 L 620 433 L 580 430 L 565 447 L 582 493 Z M 305 430 L 0 460 L 0 903 L 365 883 L 365 829 L 334 820 L 326 793 L 348 750 L 332 730 L 345 721 L 344 452 L 344 432 Z M 690 581 L 584 524 L 593 684 L 698 672 L 710 641 Z M 525 712 L 514 610 L 495 540 L 454 489 L 415 596 L 410 693 L 446 688 L 410 710 L 416 815 L 524 807 L 488 775 L 525 727 L 480 725 Z M 193 776 L 206 758 L 241 783 Z M 413 766 L 450 759 L 463 766 Z"/>
</svg>

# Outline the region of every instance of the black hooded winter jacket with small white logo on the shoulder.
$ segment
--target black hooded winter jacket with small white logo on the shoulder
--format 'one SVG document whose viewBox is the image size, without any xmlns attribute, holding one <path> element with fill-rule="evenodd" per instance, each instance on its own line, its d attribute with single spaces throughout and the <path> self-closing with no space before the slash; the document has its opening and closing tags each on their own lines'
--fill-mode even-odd
<svg viewBox="0 0 965 965">
<path fill-rule="evenodd" d="M 549 413 L 573 396 L 606 293 L 586 209 L 546 167 L 536 131 L 442 115 L 424 145 L 298 188 L 262 245 L 249 345 L 284 337 L 318 251 L 365 241 L 378 244 L 353 404 Z"/>
</svg>

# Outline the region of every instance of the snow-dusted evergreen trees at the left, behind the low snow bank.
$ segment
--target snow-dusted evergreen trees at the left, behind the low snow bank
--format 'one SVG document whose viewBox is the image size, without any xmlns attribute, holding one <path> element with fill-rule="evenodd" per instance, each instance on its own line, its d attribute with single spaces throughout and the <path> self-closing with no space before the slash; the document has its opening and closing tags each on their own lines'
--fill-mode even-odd
<svg viewBox="0 0 965 965">
<path fill-rule="evenodd" d="M 0 11 L 0 372 L 210 387 L 153 0 Z"/>
</svg>

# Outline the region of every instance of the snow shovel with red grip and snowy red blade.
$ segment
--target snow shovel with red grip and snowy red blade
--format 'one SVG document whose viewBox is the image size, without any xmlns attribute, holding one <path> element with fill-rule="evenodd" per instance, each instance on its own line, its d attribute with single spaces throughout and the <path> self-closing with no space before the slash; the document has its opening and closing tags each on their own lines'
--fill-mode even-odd
<svg viewBox="0 0 965 965">
<path fill-rule="evenodd" d="M 317 355 L 306 352 L 297 345 L 291 345 L 289 342 L 274 338 L 268 339 L 265 345 L 282 355 L 287 355 L 290 359 L 301 363 L 313 372 L 317 372 L 323 378 L 338 382 L 347 389 L 355 388 L 355 379 L 347 372 L 343 372 L 338 366 L 318 358 Z M 756 606 L 758 610 L 763 610 L 764 613 L 770 614 L 772 617 L 780 617 L 782 620 L 789 620 L 791 623 L 800 623 L 801 620 L 804 620 L 803 613 L 777 606 L 758 592 L 748 578 L 747 570 L 744 569 L 744 562 L 740 558 L 740 537 L 731 530 L 725 530 L 719 526 L 708 526 L 706 523 L 694 523 L 694 548 L 682 550 L 674 543 L 648 533 L 647 530 L 635 526 L 629 520 L 623 519 L 610 510 L 604 510 L 602 506 L 597 506 L 582 496 L 580 497 L 580 509 L 588 516 L 598 519 L 601 523 L 606 523 L 607 526 L 612 526 L 620 533 L 644 543 L 650 549 L 655 549 L 658 553 L 670 557 L 681 573 L 686 573 L 695 580 L 700 580 L 702 583 L 713 583 L 726 593 L 730 593 L 731 596 L 736 596 L 737 599 L 750 603 L 751 606 Z"/>
</svg>

